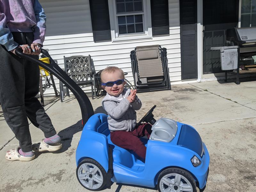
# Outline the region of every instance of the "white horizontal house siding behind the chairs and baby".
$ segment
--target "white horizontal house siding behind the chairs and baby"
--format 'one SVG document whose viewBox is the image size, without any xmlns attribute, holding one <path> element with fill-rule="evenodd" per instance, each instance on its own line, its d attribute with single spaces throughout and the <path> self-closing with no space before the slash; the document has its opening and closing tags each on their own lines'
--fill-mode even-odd
<svg viewBox="0 0 256 192">
<path fill-rule="evenodd" d="M 107 66 L 117 66 L 128 73 L 125 78 L 133 85 L 130 52 L 136 46 L 159 44 L 167 49 L 171 84 L 181 83 L 179 0 L 169 0 L 170 35 L 115 43 L 93 41 L 89 0 L 39 1 L 47 17 L 44 48 L 49 49 L 61 68 L 64 68 L 63 56 L 90 54 L 96 72 Z M 58 88 L 59 81 L 55 83 Z M 84 90 L 90 92 L 90 87 Z M 49 88 L 44 94 L 53 93 Z"/>
</svg>

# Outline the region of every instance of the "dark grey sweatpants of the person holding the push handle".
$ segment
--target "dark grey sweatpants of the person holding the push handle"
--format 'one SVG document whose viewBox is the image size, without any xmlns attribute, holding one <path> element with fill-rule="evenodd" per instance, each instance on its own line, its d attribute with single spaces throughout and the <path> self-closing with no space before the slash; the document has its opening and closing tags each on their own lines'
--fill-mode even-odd
<svg viewBox="0 0 256 192">
<path fill-rule="evenodd" d="M 33 41 L 33 33 L 12 32 L 12 34 L 14 41 L 20 45 L 30 45 Z M 45 137 L 56 134 L 51 119 L 36 98 L 38 90 L 38 65 L 19 58 L 1 45 L 0 103 L 5 121 L 19 140 L 23 152 L 31 151 L 32 145 L 28 119 L 44 132 Z"/>
</svg>

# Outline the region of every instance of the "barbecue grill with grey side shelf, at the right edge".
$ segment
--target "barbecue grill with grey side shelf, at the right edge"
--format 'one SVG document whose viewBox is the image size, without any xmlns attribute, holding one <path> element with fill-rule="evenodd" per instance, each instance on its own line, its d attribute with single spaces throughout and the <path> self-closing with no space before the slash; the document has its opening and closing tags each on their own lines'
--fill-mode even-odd
<svg viewBox="0 0 256 192">
<path fill-rule="evenodd" d="M 225 70 L 225 81 L 227 81 L 227 73 L 231 73 L 236 74 L 236 84 L 240 84 L 240 59 L 252 60 L 252 56 L 256 55 L 256 27 L 227 29 L 226 40 L 228 46 L 212 47 L 211 50 L 220 50 L 221 69 Z M 236 72 L 228 71 L 233 69 L 236 69 Z M 252 71 L 240 73 L 252 73 Z"/>
</svg>

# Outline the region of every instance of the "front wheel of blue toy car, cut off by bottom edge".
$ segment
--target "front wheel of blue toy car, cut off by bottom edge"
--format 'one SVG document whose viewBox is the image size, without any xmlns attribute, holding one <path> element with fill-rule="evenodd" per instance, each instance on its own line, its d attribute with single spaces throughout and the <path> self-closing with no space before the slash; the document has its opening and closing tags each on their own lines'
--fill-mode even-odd
<svg viewBox="0 0 256 192">
<path fill-rule="evenodd" d="M 157 188 L 160 192 L 196 192 L 196 182 L 189 172 L 179 168 L 168 168 L 160 173 Z"/>
</svg>

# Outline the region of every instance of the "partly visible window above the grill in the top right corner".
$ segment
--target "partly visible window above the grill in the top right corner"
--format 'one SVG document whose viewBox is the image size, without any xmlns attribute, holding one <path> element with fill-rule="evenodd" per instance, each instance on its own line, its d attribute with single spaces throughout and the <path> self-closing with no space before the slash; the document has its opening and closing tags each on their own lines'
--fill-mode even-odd
<svg viewBox="0 0 256 192">
<path fill-rule="evenodd" d="M 241 27 L 256 26 L 256 0 L 242 0 Z"/>
</svg>

